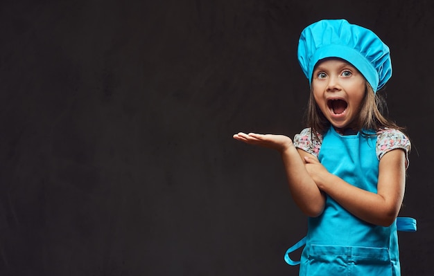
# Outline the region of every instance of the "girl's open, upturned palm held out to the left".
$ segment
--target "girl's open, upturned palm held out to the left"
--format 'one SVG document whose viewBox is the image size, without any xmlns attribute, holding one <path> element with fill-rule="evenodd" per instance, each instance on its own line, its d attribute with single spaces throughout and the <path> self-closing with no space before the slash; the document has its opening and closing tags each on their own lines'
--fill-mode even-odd
<svg viewBox="0 0 434 276">
<path fill-rule="evenodd" d="M 268 147 L 279 152 L 283 152 L 285 149 L 293 146 L 293 140 L 284 135 L 254 133 L 245 134 L 243 132 L 239 132 L 238 134 L 234 134 L 234 138 L 250 145 Z"/>
</svg>

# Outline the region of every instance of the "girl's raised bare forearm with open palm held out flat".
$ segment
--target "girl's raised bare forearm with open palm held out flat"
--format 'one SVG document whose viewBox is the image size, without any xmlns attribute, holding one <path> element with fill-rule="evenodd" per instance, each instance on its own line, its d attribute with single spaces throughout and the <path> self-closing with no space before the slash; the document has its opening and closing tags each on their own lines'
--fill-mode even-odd
<svg viewBox="0 0 434 276">
<path fill-rule="evenodd" d="M 284 162 L 290 194 L 297 206 L 309 217 L 318 217 L 322 213 L 325 196 L 318 189 L 304 166 L 306 164 L 304 156 L 316 159 L 315 156 L 302 149 L 296 149 L 288 136 L 240 132 L 235 134 L 234 138 L 250 145 L 259 145 L 279 151 Z"/>
</svg>

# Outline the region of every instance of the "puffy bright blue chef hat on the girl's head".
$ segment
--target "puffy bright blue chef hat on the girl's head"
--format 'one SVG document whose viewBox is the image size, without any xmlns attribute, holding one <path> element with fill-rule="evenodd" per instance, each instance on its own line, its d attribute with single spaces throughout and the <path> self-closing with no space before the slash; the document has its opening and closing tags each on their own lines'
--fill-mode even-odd
<svg viewBox="0 0 434 276">
<path fill-rule="evenodd" d="M 340 57 L 360 71 L 374 92 L 392 76 L 389 47 L 371 30 L 349 24 L 345 19 L 324 19 L 307 26 L 298 44 L 298 62 L 312 81 L 320 59 Z"/>
</svg>

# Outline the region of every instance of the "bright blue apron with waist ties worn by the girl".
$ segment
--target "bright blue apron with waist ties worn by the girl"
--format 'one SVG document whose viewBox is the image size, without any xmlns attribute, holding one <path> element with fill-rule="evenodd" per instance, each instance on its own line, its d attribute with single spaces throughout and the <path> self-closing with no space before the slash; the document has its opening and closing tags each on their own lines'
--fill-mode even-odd
<svg viewBox="0 0 434 276">
<path fill-rule="evenodd" d="M 331 127 L 323 136 L 318 159 L 331 174 L 376 192 L 379 160 L 375 146 L 376 136 L 340 136 Z M 324 212 L 309 217 L 306 237 L 288 249 L 285 261 L 300 264 L 300 276 L 401 275 L 397 230 L 415 231 L 415 219 L 398 218 L 391 226 L 375 226 L 326 196 Z M 304 245 L 301 260 L 291 260 L 288 254 Z"/>
</svg>

